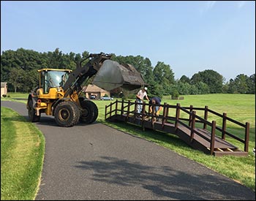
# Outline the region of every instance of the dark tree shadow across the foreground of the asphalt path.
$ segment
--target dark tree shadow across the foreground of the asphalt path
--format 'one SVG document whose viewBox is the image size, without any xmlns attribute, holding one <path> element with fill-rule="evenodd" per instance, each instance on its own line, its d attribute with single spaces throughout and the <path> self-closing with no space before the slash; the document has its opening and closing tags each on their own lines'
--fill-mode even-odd
<svg viewBox="0 0 256 201">
<path fill-rule="evenodd" d="M 121 186 L 141 186 L 170 200 L 255 200 L 255 194 L 239 183 L 216 175 L 191 175 L 170 167 L 152 167 L 126 159 L 102 156 L 97 161 L 78 162 L 75 167 L 93 170 L 92 181 Z M 164 172 L 164 173 L 163 173 Z"/>
</svg>

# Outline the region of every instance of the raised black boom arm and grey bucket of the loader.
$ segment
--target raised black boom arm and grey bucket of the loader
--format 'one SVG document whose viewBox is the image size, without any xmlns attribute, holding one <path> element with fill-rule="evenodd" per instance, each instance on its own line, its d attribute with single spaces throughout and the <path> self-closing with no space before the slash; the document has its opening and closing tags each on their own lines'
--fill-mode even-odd
<svg viewBox="0 0 256 201">
<path fill-rule="evenodd" d="M 105 53 L 90 54 L 80 61 L 62 86 L 64 96 L 73 94 L 73 91 L 79 93 L 82 90 L 82 83 L 94 75 L 93 83 L 107 91 L 118 87 L 133 90 L 147 85 L 135 67 L 130 64 L 118 64 L 118 62 L 110 60 L 111 56 L 111 54 Z M 82 62 L 88 58 L 89 61 L 82 67 Z"/>
</svg>

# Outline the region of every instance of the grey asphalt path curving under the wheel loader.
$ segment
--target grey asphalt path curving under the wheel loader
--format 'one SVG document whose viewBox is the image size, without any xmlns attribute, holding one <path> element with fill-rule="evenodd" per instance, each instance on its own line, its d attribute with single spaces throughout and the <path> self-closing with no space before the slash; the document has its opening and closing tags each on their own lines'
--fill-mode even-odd
<svg viewBox="0 0 256 201">
<path fill-rule="evenodd" d="M 28 119 L 26 105 L 1 101 Z M 255 200 L 255 192 L 148 140 L 104 124 L 34 123 L 45 136 L 36 200 Z"/>
</svg>

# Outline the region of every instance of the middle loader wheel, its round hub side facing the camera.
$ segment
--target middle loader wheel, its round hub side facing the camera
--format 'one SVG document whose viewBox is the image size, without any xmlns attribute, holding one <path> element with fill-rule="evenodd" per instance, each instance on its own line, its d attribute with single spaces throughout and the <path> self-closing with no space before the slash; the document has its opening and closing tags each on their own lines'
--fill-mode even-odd
<svg viewBox="0 0 256 201">
<path fill-rule="evenodd" d="M 60 102 L 55 109 L 54 118 L 59 126 L 71 127 L 78 124 L 80 110 L 74 102 Z"/>
</svg>

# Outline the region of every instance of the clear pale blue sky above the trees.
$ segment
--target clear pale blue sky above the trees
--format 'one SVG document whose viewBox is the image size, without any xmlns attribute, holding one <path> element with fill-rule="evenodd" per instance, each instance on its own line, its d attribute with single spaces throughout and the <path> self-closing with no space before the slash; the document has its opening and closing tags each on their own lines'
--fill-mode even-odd
<svg viewBox="0 0 256 201">
<path fill-rule="evenodd" d="M 176 79 L 255 73 L 255 1 L 1 1 L 1 53 L 115 53 L 169 64 Z"/>
</svg>

